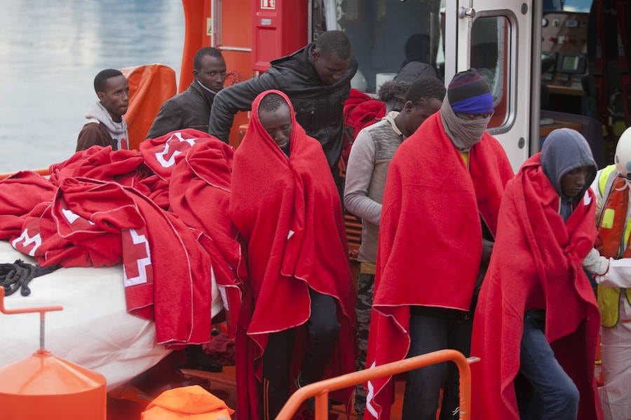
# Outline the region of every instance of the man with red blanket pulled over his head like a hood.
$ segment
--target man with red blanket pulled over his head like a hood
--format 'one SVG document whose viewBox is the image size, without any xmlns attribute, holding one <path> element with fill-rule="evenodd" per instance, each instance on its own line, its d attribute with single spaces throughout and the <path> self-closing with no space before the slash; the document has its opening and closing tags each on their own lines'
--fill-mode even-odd
<svg viewBox="0 0 631 420">
<path fill-rule="evenodd" d="M 355 370 L 355 292 L 339 195 L 322 146 L 280 91 L 252 103 L 234 153 L 229 214 L 249 274 L 236 335 L 237 412 L 273 419 L 292 378 L 302 386 Z M 351 392 L 332 398 L 348 407 Z"/>
</svg>

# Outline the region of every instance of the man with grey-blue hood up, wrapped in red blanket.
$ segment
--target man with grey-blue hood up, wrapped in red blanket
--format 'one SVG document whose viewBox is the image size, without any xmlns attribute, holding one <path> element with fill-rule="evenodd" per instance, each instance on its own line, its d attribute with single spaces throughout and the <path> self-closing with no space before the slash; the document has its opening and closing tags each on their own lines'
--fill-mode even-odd
<svg viewBox="0 0 631 420">
<path fill-rule="evenodd" d="M 600 316 L 582 267 L 595 174 L 587 141 L 560 129 L 506 186 L 473 325 L 473 419 L 602 419 Z"/>
</svg>

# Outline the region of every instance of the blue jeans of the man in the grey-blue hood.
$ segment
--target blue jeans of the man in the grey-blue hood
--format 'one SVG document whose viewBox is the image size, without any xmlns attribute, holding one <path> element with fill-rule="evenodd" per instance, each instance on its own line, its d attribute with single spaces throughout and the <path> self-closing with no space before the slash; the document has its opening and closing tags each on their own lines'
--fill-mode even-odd
<svg viewBox="0 0 631 420">
<path fill-rule="evenodd" d="M 543 334 L 545 312 L 527 311 L 520 346 L 520 377 L 515 379 L 522 420 L 576 420 L 578 389 L 565 373 Z"/>
</svg>

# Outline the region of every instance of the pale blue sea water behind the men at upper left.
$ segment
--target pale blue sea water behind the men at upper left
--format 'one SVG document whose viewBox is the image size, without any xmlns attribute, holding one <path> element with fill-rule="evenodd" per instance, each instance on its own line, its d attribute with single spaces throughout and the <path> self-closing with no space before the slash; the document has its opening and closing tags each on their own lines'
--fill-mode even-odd
<svg viewBox="0 0 631 420">
<path fill-rule="evenodd" d="M 74 153 L 102 69 L 160 63 L 176 72 L 180 0 L 0 0 L 0 174 Z"/>
</svg>

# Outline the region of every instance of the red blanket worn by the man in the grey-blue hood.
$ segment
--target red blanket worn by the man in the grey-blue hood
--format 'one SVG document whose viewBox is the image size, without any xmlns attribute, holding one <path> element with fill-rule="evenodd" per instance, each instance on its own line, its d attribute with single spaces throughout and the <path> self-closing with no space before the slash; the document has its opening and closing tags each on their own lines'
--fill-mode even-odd
<svg viewBox="0 0 631 420">
<path fill-rule="evenodd" d="M 595 200 L 588 190 L 566 222 L 559 196 L 527 160 L 508 183 L 489 271 L 473 324 L 473 419 L 519 419 L 513 379 L 520 367 L 524 312 L 531 290 L 543 290 L 545 337 L 581 393 L 578 419 L 601 419 L 594 377 L 600 316 L 583 259 L 596 238 Z"/>
</svg>

